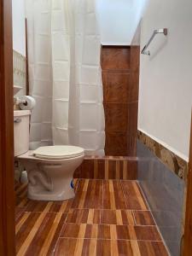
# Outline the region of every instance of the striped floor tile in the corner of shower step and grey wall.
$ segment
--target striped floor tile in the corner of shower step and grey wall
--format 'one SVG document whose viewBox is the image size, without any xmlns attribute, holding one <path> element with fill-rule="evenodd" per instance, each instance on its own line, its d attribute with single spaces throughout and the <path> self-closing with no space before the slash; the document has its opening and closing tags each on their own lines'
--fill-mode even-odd
<svg viewBox="0 0 192 256">
<path fill-rule="evenodd" d="M 127 209 L 147 210 L 148 206 L 136 181 L 121 181 Z"/>
</svg>

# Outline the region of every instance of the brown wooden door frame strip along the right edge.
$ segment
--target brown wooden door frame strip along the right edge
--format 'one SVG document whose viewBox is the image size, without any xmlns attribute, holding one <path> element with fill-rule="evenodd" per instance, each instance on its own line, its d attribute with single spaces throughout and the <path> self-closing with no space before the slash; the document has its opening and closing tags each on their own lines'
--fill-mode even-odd
<svg viewBox="0 0 192 256">
<path fill-rule="evenodd" d="M 191 115 L 192 120 L 192 115 Z M 187 182 L 187 201 L 185 213 L 185 230 L 184 230 L 184 243 L 183 255 L 192 255 L 192 122 L 190 131 L 190 150 L 189 150 L 189 171 Z"/>
</svg>

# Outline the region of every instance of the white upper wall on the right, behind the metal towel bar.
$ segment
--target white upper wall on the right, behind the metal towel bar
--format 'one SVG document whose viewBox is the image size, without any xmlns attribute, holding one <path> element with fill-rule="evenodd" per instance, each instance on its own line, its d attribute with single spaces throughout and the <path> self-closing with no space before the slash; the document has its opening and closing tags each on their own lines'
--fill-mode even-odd
<svg viewBox="0 0 192 256">
<path fill-rule="evenodd" d="M 156 28 L 151 56 L 141 55 L 138 127 L 187 160 L 192 106 L 192 1 L 150 0 L 141 47 Z"/>
</svg>

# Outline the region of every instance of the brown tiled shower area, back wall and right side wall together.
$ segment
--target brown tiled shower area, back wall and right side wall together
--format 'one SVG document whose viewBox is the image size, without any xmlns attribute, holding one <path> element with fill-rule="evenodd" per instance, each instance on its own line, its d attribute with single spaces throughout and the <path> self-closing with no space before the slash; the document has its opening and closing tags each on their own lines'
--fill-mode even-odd
<svg viewBox="0 0 192 256">
<path fill-rule="evenodd" d="M 102 47 L 106 155 L 136 156 L 139 58 L 135 45 Z"/>
</svg>

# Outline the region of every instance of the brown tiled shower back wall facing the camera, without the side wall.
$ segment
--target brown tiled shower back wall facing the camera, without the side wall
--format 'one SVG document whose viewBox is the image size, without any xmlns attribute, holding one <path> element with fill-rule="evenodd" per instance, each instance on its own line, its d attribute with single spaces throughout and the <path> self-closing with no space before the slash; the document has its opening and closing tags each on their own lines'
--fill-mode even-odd
<svg viewBox="0 0 192 256">
<path fill-rule="evenodd" d="M 127 155 L 130 47 L 102 47 L 106 155 Z"/>
</svg>

